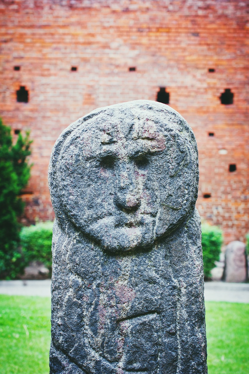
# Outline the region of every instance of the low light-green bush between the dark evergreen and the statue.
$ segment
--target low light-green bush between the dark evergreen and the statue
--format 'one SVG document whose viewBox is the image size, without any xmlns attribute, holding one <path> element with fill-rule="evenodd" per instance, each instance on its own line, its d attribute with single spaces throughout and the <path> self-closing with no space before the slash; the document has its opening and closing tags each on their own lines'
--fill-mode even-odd
<svg viewBox="0 0 249 374">
<path fill-rule="evenodd" d="M 52 270 L 52 231 L 53 222 L 40 222 L 35 226 L 23 227 L 20 233 L 25 263 L 42 262 L 51 273 Z"/>
</svg>

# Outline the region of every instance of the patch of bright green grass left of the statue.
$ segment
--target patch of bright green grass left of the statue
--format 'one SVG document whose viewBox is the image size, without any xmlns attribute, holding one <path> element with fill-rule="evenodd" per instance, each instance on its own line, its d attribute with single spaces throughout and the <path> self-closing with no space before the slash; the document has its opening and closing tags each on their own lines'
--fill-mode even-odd
<svg viewBox="0 0 249 374">
<path fill-rule="evenodd" d="M 0 373 L 48 374 L 50 298 L 0 295 Z"/>
</svg>

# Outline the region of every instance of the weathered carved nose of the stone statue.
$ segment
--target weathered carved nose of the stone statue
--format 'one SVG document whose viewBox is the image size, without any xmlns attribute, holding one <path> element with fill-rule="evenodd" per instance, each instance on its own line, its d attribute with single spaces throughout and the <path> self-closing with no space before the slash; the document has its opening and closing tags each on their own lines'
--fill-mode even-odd
<svg viewBox="0 0 249 374">
<path fill-rule="evenodd" d="M 135 211 L 140 205 L 140 197 L 136 188 L 134 172 L 130 168 L 120 171 L 118 188 L 114 201 L 119 209 Z"/>
</svg>

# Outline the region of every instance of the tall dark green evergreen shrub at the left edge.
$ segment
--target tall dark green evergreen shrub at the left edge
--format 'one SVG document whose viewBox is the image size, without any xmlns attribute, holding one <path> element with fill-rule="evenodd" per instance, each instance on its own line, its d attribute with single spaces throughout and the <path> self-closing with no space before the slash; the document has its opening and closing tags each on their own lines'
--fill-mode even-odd
<svg viewBox="0 0 249 374">
<path fill-rule="evenodd" d="M 30 177 L 28 133 L 21 133 L 13 144 L 11 129 L 0 119 L 0 279 L 13 279 L 22 272 L 24 263 L 19 249 L 21 225 L 18 217 L 24 202 L 19 197 Z"/>
</svg>

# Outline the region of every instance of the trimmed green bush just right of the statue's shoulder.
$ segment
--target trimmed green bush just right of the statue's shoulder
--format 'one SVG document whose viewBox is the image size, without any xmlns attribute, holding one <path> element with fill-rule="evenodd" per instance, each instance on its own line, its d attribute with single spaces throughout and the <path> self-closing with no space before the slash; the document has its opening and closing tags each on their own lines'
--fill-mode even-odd
<svg viewBox="0 0 249 374">
<path fill-rule="evenodd" d="M 222 245 L 222 231 L 219 227 L 202 224 L 202 251 L 204 277 L 210 278 L 215 261 L 219 260 Z"/>
</svg>

